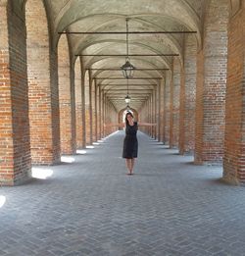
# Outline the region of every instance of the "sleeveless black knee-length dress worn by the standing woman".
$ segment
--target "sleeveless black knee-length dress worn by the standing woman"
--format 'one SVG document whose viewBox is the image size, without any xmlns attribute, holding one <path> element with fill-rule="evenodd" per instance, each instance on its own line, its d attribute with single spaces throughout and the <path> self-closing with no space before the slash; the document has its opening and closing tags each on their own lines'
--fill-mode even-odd
<svg viewBox="0 0 245 256">
<path fill-rule="evenodd" d="M 137 129 L 137 122 L 134 122 L 133 126 L 127 125 L 125 128 L 123 158 L 136 158 L 138 155 Z"/>
</svg>

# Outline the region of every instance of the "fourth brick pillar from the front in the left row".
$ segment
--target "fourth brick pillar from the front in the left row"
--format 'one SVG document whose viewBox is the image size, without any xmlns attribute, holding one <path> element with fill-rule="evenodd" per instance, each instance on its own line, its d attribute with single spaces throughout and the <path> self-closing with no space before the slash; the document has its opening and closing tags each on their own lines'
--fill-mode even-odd
<svg viewBox="0 0 245 256">
<path fill-rule="evenodd" d="M 75 129 L 76 147 L 82 148 L 83 144 L 83 123 L 82 123 L 82 97 L 81 97 L 81 65 L 77 58 L 74 64 L 74 88 L 75 88 Z"/>
</svg>

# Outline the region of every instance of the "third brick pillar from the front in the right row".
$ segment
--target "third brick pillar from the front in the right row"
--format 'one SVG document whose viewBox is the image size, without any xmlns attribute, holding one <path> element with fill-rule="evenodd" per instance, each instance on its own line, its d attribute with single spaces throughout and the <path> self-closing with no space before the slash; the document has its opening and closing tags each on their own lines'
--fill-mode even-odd
<svg viewBox="0 0 245 256">
<path fill-rule="evenodd" d="M 184 42 L 184 67 L 180 85 L 179 153 L 193 154 L 195 145 L 196 108 L 196 42 L 186 36 Z"/>
</svg>

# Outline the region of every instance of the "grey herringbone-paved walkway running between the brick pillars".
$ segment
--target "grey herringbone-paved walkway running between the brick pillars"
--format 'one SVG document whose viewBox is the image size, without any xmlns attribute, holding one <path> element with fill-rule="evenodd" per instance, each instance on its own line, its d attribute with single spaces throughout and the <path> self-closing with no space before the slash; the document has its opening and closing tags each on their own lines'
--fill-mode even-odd
<svg viewBox="0 0 245 256">
<path fill-rule="evenodd" d="M 134 176 L 120 131 L 40 168 L 46 179 L 0 188 L 0 255 L 245 255 L 245 187 L 138 138 Z"/>
</svg>

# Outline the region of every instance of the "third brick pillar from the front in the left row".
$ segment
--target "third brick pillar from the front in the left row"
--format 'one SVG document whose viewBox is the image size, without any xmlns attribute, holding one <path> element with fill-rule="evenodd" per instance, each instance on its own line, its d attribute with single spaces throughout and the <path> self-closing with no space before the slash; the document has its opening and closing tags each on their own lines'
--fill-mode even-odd
<svg viewBox="0 0 245 256">
<path fill-rule="evenodd" d="M 75 145 L 74 72 L 70 64 L 69 46 L 66 35 L 60 37 L 58 46 L 59 96 L 61 117 L 62 154 L 73 154 Z"/>
</svg>

